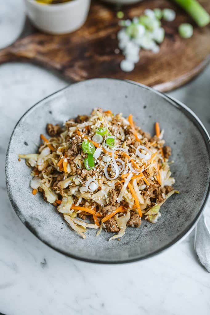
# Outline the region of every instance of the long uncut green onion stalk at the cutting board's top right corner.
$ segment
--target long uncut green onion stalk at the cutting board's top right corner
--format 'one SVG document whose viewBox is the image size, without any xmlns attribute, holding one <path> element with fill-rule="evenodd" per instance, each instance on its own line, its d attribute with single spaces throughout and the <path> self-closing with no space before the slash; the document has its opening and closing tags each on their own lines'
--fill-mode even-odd
<svg viewBox="0 0 210 315">
<path fill-rule="evenodd" d="M 210 22 L 210 15 L 196 0 L 173 0 L 178 3 L 197 23 L 206 26 Z"/>
</svg>

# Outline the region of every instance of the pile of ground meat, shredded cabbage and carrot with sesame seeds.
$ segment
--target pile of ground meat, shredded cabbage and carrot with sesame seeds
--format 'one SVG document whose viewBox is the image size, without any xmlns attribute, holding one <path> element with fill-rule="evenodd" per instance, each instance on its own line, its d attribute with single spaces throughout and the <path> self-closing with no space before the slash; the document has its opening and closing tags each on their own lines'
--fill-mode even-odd
<svg viewBox="0 0 210 315">
<path fill-rule="evenodd" d="M 47 124 L 38 153 L 20 154 L 32 167 L 32 194 L 42 192 L 82 238 L 87 228 L 104 229 L 119 239 L 141 218 L 155 223 L 160 206 L 175 191 L 164 130 L 151 137 L 130 114 L 94 109 L 60 125 Z"/>
</svg>

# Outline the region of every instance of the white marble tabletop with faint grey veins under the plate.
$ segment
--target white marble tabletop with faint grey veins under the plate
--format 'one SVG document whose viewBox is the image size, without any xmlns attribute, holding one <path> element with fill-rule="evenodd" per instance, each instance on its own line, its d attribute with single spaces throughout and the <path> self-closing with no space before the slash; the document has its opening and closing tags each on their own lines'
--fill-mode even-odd
<svg viewBox="0 0 210 315">
<path fill-rule="evenodd" d="M 21 0 L 1 1 L 1 47 L 18 36 L 24 20 L 22 8 Z M 210 67 L 190 84 L 169 93 L 192 108 L 208 131 L 209 82 Z M 16 216 L 4 182 L 4 159 L 12 129 L 29 107 L 66 84 L 36 66 L 20 63 L 0 66 L 0 312 L 7 315 L 210 314 L 210 274 L 196 258 L 194 232 L 148 260 L 95 265 L 58 254 L 29 232 Z M 209 210 L 210 203 L 205 209 L 210 226 Z"/>
</svg>

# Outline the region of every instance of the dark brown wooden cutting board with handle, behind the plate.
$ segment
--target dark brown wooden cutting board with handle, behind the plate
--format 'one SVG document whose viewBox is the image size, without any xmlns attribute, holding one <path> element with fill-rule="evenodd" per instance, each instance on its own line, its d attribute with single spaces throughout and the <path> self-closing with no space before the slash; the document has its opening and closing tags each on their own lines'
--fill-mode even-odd
<svg viewBox="0 0 210 315">
<path fill-rule="evenodd" d="M 210 1 L 201 0 L 210 12 Z M 160 91 L 174 89 L 195 77 L 208 64 L 210 58 L 210 26 L 198 28 L 191 18 L 167 0 L 147 0 L 123 7 L 125 18 L 133 18 L 144 9 L 172 8 L 176 11 L 173 22 L 162 21 L 166 36 L 160 52 L 140 51 L 140 61 L 132 72 L 122 72 L 121 52 L 117 48 L 117 8 L 92 1 L 85 25 L 67 35 L 47 35 L 26 23 L 21 37 L 0 51 L 0 63 L 24 61 L 55 70 L 70 82 L 93 77 L 115 77 L 134 80 Z M 189 39 L 180 38 L 178 25 L 189 22 L 194 34 Z"/>
</svg>

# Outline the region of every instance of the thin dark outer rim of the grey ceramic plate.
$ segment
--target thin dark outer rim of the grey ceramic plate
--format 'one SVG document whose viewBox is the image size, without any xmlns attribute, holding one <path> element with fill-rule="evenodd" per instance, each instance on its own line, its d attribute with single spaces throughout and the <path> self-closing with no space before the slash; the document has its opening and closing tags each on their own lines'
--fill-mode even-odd
<svg viewBox="0 0 210 315">
<path fill-rule="evenodd" d="M 206 143 L 206 146 L 207 146 L 207 149 L 208 149 L 208 154 L 209 154 L 209 158 L 210 158 L 210 136 L 208 135 L 208 132 L 206 130 L 206 128 L 204 127 L 203 123 L 201 122 L 201 120 L 197 117 L 197 115 L 186 105 L 184 105 L 182 102 L 180 102 L 179 100 L 176 100 L 175 98 L 169 96 L 169 95 L 166 95 L 164 93 L 161 93 L 159 91 L 156 91 L 155 89 L 153 88 L 150 88 L 144 84 L 141 84 L 141 83 L 137 83 L 137 82 L 134 82 L 134 81 L 131 81 L 131 80 L 123 80 L 123 79 L 115 79 L 115 78 L 93 78 L 93 79 L 90 79 L 90 80 L 87 80 L 87 81 L 91 81 L 91 80 L 96 80 L 96 79 L 110 79 L 110 80 L 116 80 L 116 81 L 126 81 L 130 84 L 134 84 L 134 85 L 137 85 L 137 86 L 140 86 L 144 89 L 148 89 L 148 90 L 151 90 L 153 91 L 154 93 L 156 93 L 157 95 L 160 95 L 161 97 L 165 98 L 166 100 L 172 100 L 179 108 L 179 110 L 183 111 L 185 115 L 188 116 L 188 118 L 190 118 L 190 120 L 196 125 L 196 127 L 199 129 L 201 135 L 203 136 L 203 139 Z M 79 84 L 80 82 L 76 82 L 76 83 L 72 83 L 72 84 Z M 70 85 L 72 85 L 70 84 Z M 35 106 L 37 106 L 40 102 L 42 102 L 43 100 L 45 99 L 48 99 L 49 97 L 57 94 L 57 93 L 60 93 L 61 91 L 67 89 L 70 85 L 67 85 L 66 87 L 46 96 L 44 99 L 38 101 L 36 104 L 34 104 L 33 106 L 31 106 L 21 117 L 20 119 L 18 120 L 18 122 L 16 123 L 14 129 L 13 129 L 13 132 L 10 136 L 10 139 L 9 139 L 9 145 L 8 145 L 8 148 L 7 148 L 7 152 L 6 152 L 6 158 L 5 158 L 5 180 L 6 180 L 6 188 L 7 188 L 7 192 L 8 192 L 8 196 L 9 196 L 9 200 L 12 204 L 12 207 L 13 209 L 15 210 L 15 213 L 17 214 L 17 216 L 19 217 L 19 219 L 21 220 L 20 216 L 19 216 L 19 213 L 20 213 L 20 209 L 18 208 L 18 206 L 16 205 L 15 203 L 15 200 L 13 199 L 12 197 L 12 192 L 11 192 L 11 189 L 9 187 L 9 181 L 8 181 L 8 174 L 7 174 L 7 166 L 8 166 L 8 155 L 9 155 L 9 149 L 10 149 L 10 143 L 11 143 L 11 139 L 12 139 L 12 136 L 15 132 L 15 129 L 17 127 L 17 125 L 19 124 L 19 122 L 21 121 L 21 119 Z M 193 228 L 195 227 L 197 221 L 199 220 L 199 218 L 201 217 L 202 215 L 202 212 L 205 208 L 205 205 L 207 203 L 207 200 L 208 200 L 208 196 L 209 196 L 209 192 L 210 192 L 210 181 L 208 183 L 208 189 L 207 189 L 207 194 L 206 194 L 206 197 L 204 199 L 204 202 L 201 206 L 201 209 L 200 211 L 198 212 L 197 216 L 195 217 L 195 219 L 190 222 L 189 226 L 180 234 L 178 235 L 172 242 L 168 243 L 167 245 L 163 246 L 161 249 L 157 250 L 157 251 L 154 251 L 153 253 L 151 254 L 148 254 L 148 255 L 145 255 L 145 256 L 142 256 L 142 257 L 139 257 L 139 258 L 135 258 L 135 259 L 129 259 L 129 260 L 123 260 L 123 261 L 102 261 L 102 260 L 94 260 L 94 259 L 85 259 L 85 258 L 81 258 L 79 256 L 76 256 L 76 255 L 72 255 L 72 254 L 69 254 L 67 252 L 64 252 L 60 249 L 57 249 L 55 248 L 54 246 L 52 246 L 51 244 L 49 244 L 48 242 L 46 242 L 44 239 L 42 239 L 38 234 L 37 232 L 31 227 L 31 226 L 28 226 L 28 225 L 25 225 L 24 222 L 22 221 L 22 223 L 27 227 L 27 229 L 29 229 L 38 239 L 40 239 L 43 243 L 45 243 L 46 245 L 48 245 L 49 247 L 51 247 L 52 249 L 60 252 L 61 254 L 65 255 L 65 256 L 68 256 L 68 257 L 71 257 L 71 258 L 74 258 L 74 259 L 77 259 L 77 260 L 80 260 L 80 261 L 85 261 L 85 262 L 91 262 L 91 263 L 99 263 L 99 264 L 122 264 L 122 263 L 130 263 L 130 262 L 135 262 L 135 261 L 140 261 L 140 260 L 143 260 L 143 259 L 146 259 L 146 258 L 149 258 L 149 257 L 152 257 L 152 256 L 155 256 L 157 254 L 160 254 L 161 252 L 163 252 L 164 250 L 170 248 L 172 245 L 174 245 L 175 243 L 177 242 L 180 242 L 184 237 L 186 237 L 192 230 Z"/>
</svg>

